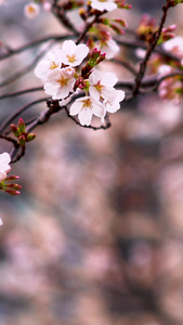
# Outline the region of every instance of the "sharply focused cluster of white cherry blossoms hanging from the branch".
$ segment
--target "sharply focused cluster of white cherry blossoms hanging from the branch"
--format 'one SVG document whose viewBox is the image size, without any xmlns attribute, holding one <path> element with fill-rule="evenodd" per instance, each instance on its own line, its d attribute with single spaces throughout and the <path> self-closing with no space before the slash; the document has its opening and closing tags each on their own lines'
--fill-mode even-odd
<svg viewBox="0 0 183 325">
<path fill-rule="evenodd" d="M 74 92 L 86 91 L 86 96 L 77 99 L 69 108 L 69 114 L 78 115 L 82 126 L 91 125 L 92 115 L 104 121 L 106 113 L 118 110 L 125 99 L 125 92 L 114 88 L 118 81 L 115 74 L 102 75 L 93 68 L 87 78 L 78 74 L 76 67 L 88 54 L 86 44 L 76 46 L 73 40 L 66 40 L 61 50 L 49 52 L 48 58 L 40 61 L 35 69 L 36 76 L 44 82 L 45 93 L 62 101 L 61 105 L 68 103 Z"/>
</svg>

